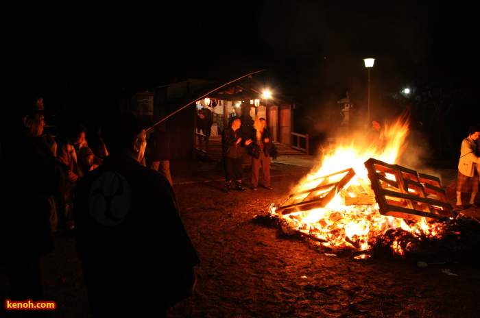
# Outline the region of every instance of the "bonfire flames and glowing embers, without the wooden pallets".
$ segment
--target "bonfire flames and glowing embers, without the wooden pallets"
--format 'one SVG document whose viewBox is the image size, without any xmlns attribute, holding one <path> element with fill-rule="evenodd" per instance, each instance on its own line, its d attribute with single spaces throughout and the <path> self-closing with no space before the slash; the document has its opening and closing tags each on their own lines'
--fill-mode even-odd
<svg viewBox="0 0 480 318">
<path fill-rule="evenodd" d="M 361 138 L 339 140 L 333 151 L 324 154 L 320 169 L 311 172 L 293 192 L 305 193 L 307 196 L 308 189 L 315 188 L 315 184 L 311 183 L 320 176 L 346 171 L 346 169 L 353 169 L 355 177 L 348 184 L 343 184 L 343 188 L 359 182 L 370 185 L 364 162 L 375 158 L 390 164 L 396 163 L 405 150 L 408 133 L 409 123 L 405 117 L 402 117 L 392 125 L 385 125 L 379 140 L 374 143 L 366 143 Z M 417 238 L 435 236 L 443 226 L 442 222 L 424 217 L 411 221 L 381 215 L 379 204 L 375 202 L 346 205 L 345 198 L 342 198 L 339 193 L 321 208 L 310 210 L 308 206 L 307 209 L 296 208 L 285 215 L 276 212 L 272 207 L 271 212 L 278 213 L 279 217 L 287 221 L 290 229 L 313 238 L 319 244 L 334 248 L 355 247 L 359 251 L 368 251 L 378 238 L 385 238 L 385 234 L 396 232 L 398 235 L 390 238 L 388 245 L 397 255 L 403 255 L 412 248 L 411 241 L 403 241 L 405 233 Z M 361 254 L 360 257 L 366 255 L 366 253 L 359 254 Z"/>
</svg>

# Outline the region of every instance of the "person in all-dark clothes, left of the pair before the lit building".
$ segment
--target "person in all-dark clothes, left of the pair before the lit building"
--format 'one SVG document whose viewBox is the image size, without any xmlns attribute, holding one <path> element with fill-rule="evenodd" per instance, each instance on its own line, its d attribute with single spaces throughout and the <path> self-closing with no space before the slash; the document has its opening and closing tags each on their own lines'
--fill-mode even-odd
<svg viewBox="0 0 480 318">
<path fill-rule="evenodd" d="M 232 189 L 232 180 L 235 180 L 235 190 L 245 191 L 241 186 L 241 120 L 236 118 L 228 124 L 221 136 L 221 148 L 224 154 L 224 168 L 226 192 Z M 251 142 L 251 140 L 250 140 Z M 248 145 L 245 143 L 245 145 Z"/>
</svg>

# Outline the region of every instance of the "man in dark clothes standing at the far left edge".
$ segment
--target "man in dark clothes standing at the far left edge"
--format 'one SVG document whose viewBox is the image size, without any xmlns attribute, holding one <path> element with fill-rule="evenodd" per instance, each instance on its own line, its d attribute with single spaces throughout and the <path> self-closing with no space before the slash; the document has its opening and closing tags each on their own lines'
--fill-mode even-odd
<svg viewBox="0 0 480 318">
<path fill-rule="evenodd" d="M 43 135 L 43 99 L 16 96 L 0 133 L 0 266 L 10 299 L 45 300 L 41 258 L 53 251 L 49 197 L 63 190 L 67 170 L 56 161 L 56 143 Z"/>
</svg>

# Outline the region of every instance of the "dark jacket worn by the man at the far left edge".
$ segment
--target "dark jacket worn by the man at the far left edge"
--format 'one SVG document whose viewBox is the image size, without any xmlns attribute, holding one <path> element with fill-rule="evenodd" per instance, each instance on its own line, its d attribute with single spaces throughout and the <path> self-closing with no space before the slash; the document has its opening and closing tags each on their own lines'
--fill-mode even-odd
<svg viewBox="0 0 480 318">
<path fill-rule="evenodd" d="M 64 191 L 66 167 L 23 134 L 0 140 L 0 266 L 53 251 L 49 195 Z M 40 137 L 41 138 L 41 137 Z"/>
</svg>

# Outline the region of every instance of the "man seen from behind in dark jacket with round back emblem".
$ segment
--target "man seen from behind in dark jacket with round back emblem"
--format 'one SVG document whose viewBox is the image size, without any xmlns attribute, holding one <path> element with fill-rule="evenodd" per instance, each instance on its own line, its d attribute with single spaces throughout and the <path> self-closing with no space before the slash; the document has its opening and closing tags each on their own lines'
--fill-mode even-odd
<svg viewBox="0 0 480 318">
<path fill-rule="evenodd" d="M 109 154 L 77 184 L 75 247 L 96 317 L 166 317 L 195 285 L 200 260 L 173 188 L 139 163 L 143 128 L 134 114 L 109 117 L 101 130 Z"/>
</svg>

